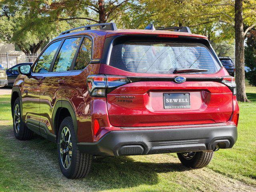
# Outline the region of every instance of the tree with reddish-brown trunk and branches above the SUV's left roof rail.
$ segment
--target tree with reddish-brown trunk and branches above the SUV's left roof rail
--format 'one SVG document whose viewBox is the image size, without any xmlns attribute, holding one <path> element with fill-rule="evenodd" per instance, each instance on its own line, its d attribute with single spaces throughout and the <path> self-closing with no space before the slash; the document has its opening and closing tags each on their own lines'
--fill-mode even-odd
<svg viewBox="0 0 256 192">
<path fill-rule="evenodd" d="M 56 2 L 49 0 L 49 5 L 44 10 L 52 15 L 53 21 L 80 19 L 95 23 L 106 23 L 118 19 L 122 12 L 132 5 L 132 2 L 132 0 L 60 0 Z M 56 12 L 59 14 L 56 14 Z M 60 14 L 62 12 L 68 14 L 62 15 Z M 85 12 L 87 17 L 80 16 L 79 12 Z"/>
</svg>

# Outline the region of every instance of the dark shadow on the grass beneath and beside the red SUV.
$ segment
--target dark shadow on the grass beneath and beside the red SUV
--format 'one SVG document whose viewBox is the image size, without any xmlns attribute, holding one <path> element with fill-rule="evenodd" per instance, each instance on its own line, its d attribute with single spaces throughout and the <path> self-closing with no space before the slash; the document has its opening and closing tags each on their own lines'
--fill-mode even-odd
<svg viewBox="0 0 256 192">
<path fill-rule="evenodd" d="M 16 147 L 14 152 L 17 151 L 19 158 L 23 159 L 22 162 L 15 162 L 16 166 L 27 165 L 24 168 L 26 173 L 22 173 L 22 175 L 36 174 L 38 178 L 44 178 L 44 182 L 49 182 L 49 185 L 52 180 L 58 180 L 61 183 L 67 182 L 58 168 L 56 144 L 37 135 L 29 141 L 16 140 L 10 125 L 1 126 L 0 139 L 4 140 L 6 149 Z M 6 160 L 14 161 L 11 157 Z M 125 156 L 109 157 L 94 161 L 91 172 L 86 178 L 68 180 L 68 182 L 78 184 L 80 188 L 84 189 L 89 186 L 94 191 L 130 188 L 142 184 L 157 184 L 159 182 L 158 173 L 185 170 L 188 169 L 178 163 L 138 162 Z M 15 174 L 17 170 L 14 168 L 12 171 Z M 36 182 L 36 178 L 30 179 L 31 182 Z M 40 184 L 38 183 L 38 185 Z"/>
</svg>

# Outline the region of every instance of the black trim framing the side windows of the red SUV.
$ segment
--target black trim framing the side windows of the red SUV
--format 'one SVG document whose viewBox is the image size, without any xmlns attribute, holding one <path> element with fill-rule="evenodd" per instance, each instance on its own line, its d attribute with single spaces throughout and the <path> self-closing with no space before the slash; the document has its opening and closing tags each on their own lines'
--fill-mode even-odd
<svg viewBox="0 0 256 192">
<path fill-rule="evenodd" d="M 60 52 L 60 49 L 61 49 L 61 47 L 62 47 L 64 41 L 65 41 L 66 39 L 79 38 L 79 37 L 81 37 L 81 40 L 80 40 L 80 42 L 79 42 L 78 49 L 76 50 L 76 53 L 75 53 L 75 55 L 74 55 L 74 58 L 73 58 L 73 60 L 72 60 L 72 63 L 71 63 L 71 66 L 70 66 L 69 70 L 68 70 L 68 71 L 53 72 L 52 70 L 53 70 L 53 67 L 54 67 L 54 63 L 55 63 L 55 61 L 56 61 L 56 58 L 57 58 L 57 56 L 58 56 L 58 54 L 59 54 L 59 52 Z M 38 56 L 38 58 L 36 59 L 36 61 L 34 62 L 34 64 L 31 66 L 31 68 L 32 68 L 31 74 L 63 73 L 63 72 L 71 72 L 71 71 L 81 71 L 81 70 L 84 70 L 86 67 L 83 68 L 83 69 L 81 69 L 81 70 L 73 70 L 73 69 L 74 69 L 74 63 L 75 63 L 76 58 L 77 58 L 77 56 L 78 56 L 78 52 L 79 52 L 79 50 L 80 50 L 80 48 L 81 48 L 81 46 L 82 46 L 82 42 L 83 42 L 84 38 L 88 38 L 88 39 L 90 39 L 91 42 L 92 42 L 92 50 L 91 50 L 91 60 L 92 60 L 92 56 L 93 56 L 93 47 L 94 47 L 93 38 L 90 37 L 90 36 L 88 36 L 88 35 L 68 36 L 68 37 L 65 37 L 65 38 L 61 38 L 61 39 L 58 39 L 58 40 L 54 40 L 54 41 L 50 42 L 49 44 L 47 44 L 47 46 L 45 46 L 45 48 L 42 50 L 42 52 L 40 53 L 40 55 Z M 52 62 L 51 62 L 50 68 L 49 68 L 49 72 L 35 73 L 35 72 L 34 72 L 35 66 L 36 66 L 36 64 L 37 64 L 37 62 L 38 62 L 40 56 L 44 53 L 44 51 L 45 51 L 51 44 L 53 44 L 53 43 L 55 43 L 55 42 L 58 42 L 58 41 L 61 41 L 61 42 L 60 42 L 60 45 L 59 45 L 58 49 L 56 50 L 56 53 L 54 54 L 54 57 L 53 57 L 53 59 L 52 59 Z"/>
</svg>

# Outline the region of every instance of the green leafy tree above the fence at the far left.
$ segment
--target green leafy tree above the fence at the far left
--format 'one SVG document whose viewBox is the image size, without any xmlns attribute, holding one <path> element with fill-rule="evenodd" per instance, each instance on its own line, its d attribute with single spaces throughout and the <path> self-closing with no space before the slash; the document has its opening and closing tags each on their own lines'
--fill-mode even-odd
<svg viewBox="0 0 256 192">
<path fill-rule="evenodd" d="M 0 39 L 15 44 L 25 54 L 35 54 L 44 42 L 65 29 L 64 24 L 54 24 L 48 16 L 34 12 L 23 6 L 5 4 L 0 14 Z"/>
</svg>

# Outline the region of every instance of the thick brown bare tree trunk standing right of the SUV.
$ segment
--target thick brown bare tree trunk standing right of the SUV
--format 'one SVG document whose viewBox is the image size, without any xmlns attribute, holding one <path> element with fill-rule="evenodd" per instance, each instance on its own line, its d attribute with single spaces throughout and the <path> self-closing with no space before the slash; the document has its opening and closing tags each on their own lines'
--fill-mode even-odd
<svg viewBox="0 0 256 192">
<path fill-rule="evenodd" d="M 245 92 L 244 28 L 242 6 L 243 0 L 235 0 L 236 98 L 238 101 L 248 102 Z"/>
</svg>

